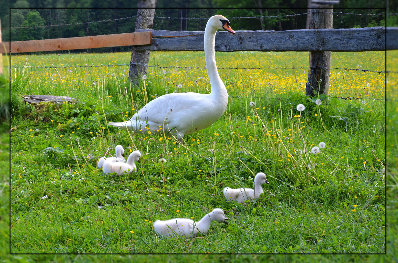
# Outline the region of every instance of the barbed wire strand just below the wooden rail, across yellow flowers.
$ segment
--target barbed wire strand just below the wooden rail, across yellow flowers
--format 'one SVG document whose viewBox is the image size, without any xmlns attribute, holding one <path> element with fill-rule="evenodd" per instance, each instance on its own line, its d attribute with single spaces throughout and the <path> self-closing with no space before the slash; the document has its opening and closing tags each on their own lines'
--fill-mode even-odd
<svg viewBox="0 0 398 263">
<path fill-rule="evenodd" d="M 130 63 L 130 64 L 110 64 L 110 65 L 87 65 L 87 66 L 12 66 L 12 68 L 98 68 L 98 67 L 115 67 L 115 66 L 133 66 L 140 65 L 148 68 L 181 68 L 181 69 L 206 69 L 206 67 L 180 67 L 180 66 L 160 66 L 160 65 L 146 65 L 142 63 Z M 218 67 L 217 69 L 226 70 L 273 70 L 273 69 L 309 69 L 310 67 L 259 67 L 259 68 L 238 68 L 238 67 Z M 363 70 L 360 68 L 324 68 L 324 70 L 345 70 L 345 71 L 362 71 L 362 72 L 374 72 L 374 73 L 386 73 L 385 71 L 376 70 Z"/>
</svg>

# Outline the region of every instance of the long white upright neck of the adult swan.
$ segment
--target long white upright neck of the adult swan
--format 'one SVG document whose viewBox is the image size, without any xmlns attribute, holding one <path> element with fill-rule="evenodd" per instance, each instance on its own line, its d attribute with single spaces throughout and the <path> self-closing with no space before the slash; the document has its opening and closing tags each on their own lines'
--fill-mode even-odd
<svg viewBox="0 0 398 263">
<path fill-rule="evenodd" d="M 228 93 L 222 83 L 219 72 L 217 71 L 216 56 L 214 51 L 214 44 L 216 39 L 217 29 L 207 23 L 205 29 L 205 60 L 207 75 L 209 76 L 211 85 L 211 95 L 217 98 L 218 101 L 222 101 L 228 97 Z"/>
</svg>

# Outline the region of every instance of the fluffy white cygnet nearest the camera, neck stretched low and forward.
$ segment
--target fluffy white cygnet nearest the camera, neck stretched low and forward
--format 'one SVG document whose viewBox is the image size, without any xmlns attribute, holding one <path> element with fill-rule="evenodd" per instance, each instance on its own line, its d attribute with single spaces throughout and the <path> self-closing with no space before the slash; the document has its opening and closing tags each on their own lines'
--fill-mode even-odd
<svg viewBox="0 0 398 263">
<path fill-rule="evenodd" d="M 153 224 L 153 229 L 158 236 L 181 235 L 191 237 L 196 236 L 198 233 L 207 234 L 211 221 L 228 224 L 225 220 L 228 220 L 228 218 L 225 217 L 224 211 L 215 208 L 199 222 L 186 218 L 175 218 L 166 221 L 156 220 Z"/>
</svg>

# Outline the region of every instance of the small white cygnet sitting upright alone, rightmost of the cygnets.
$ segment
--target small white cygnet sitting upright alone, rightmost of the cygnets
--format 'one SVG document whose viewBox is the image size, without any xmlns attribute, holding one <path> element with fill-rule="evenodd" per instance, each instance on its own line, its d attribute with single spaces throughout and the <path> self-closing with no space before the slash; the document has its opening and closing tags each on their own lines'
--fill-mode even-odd
<svg viewBox="0 0 398 263">
<path fill-rule="evenodd" d="M 260 197 L 263 193 L 263 188 L 261 184 L 269 184 L 267 181 L 267 176 L 264 173 L 259 172 L 254 178 L 254 189 L 252 188 L 229 188 L 226 187 L 222 191 L 224 192 L 224 197 L 228 200 L 236 201 L 238 203 L 243 203 L 248 198 L 254 200 Z"/>
</svg>

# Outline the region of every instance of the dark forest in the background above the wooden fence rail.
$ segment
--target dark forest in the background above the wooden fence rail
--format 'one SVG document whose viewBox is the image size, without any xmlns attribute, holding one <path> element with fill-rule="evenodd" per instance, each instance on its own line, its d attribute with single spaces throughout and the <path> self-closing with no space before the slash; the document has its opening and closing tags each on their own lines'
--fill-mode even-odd
<svg viewBox="0 0 398 263">
<path fill-rule="evenodd" d="M 0 19 L 3 41 L 23 41 L 60 37 L 79 37 L 134 32 L 135 17 L 117 21 L 83 25 L 45 27 L 35 29 L 11 29 L 37 25 L 58 25 L 131 17 L 137 14 L 137 0 L 0 0 Z M 109 8 L 132 9 L 100 9 Z M 387 13 L 397 13 L 398 7 L 390 1 Z M 307 12 L 307 0 L 157 0 L 156 16 L 161 17 L 210 17 L 222 14 L 226 17 L 259 15 L 287 15 Z M 171 9 L 165 9 L 168 7 Z M 173 8 L 174 7 L 174 8 Z M 185 8 L 181 8 L 185 7 Z M 189 7 L 189 8 L 187 8 Z M 224 9 L 212 9 L 220 8 Z M 226 9 L 242 8 L 242 9 Z M 366 7 L 358 9 L 359 7 Z M 393 7 L 393 8 L 392 8 Z M 9 8 L 11 9 L 11 15 Z M 42 9 L 47 8 L 47 9 Z M 51 9 L 49 9 L 51 8 Z M 59 9 L 79 8 L 79 9 Z M 81 9 L 83 8 L 83 9 Z M 335 12 L 357 14 L 386 13 L 386 2 L 374 0 L 340 0 Z M 388 23 L 396 24 L 397 15 L 388 17 Z M 10 19 L 11 18 L 11 19 Z M 384 26 L 384 15 L 358 16 L 334 14 L 334 28 Z M 160 19 L 155 18 L 154 29 L 203 31 L 206 19 Z M 305 29 L 306 15 L 260 19 L 233 19 L 234 30 L 290 30 Z"/>
</svg>

